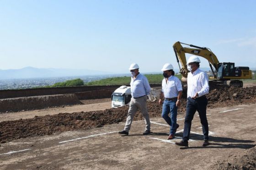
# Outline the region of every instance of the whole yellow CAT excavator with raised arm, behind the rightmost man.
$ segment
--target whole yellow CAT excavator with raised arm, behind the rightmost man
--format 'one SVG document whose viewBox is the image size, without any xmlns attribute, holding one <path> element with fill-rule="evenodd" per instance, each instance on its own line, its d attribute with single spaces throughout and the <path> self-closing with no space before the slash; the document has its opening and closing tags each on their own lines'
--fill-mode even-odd
<svg viewBox="0 0 256 170">
<path fill-rule="evenodd" d="M 190 46 L 183 47 L 181 44 Z M 213 78 L 209 81 L 209 84 L 215 85 L 227 85 L 235 87 L 243 87 L 243 81 L 240 79 L 251 79 L 252 72 L 249 67 L 235 67 L 234 62 L 219 62 L 215 54 L 206 47 L 194 46 L 192 44 L 186 44 L 182 42 L 176 42 L 173 45 L 173 50 L 176 55 L 177 62 L 180 67 L 180 73 L 182 75 L 181 81 L 187 82 L 187 60 L 185 53 L 201 56 L 208 60 L 211 68 Z M 180 63 L 181 62 L 181 66 Z"/>
</svg>

